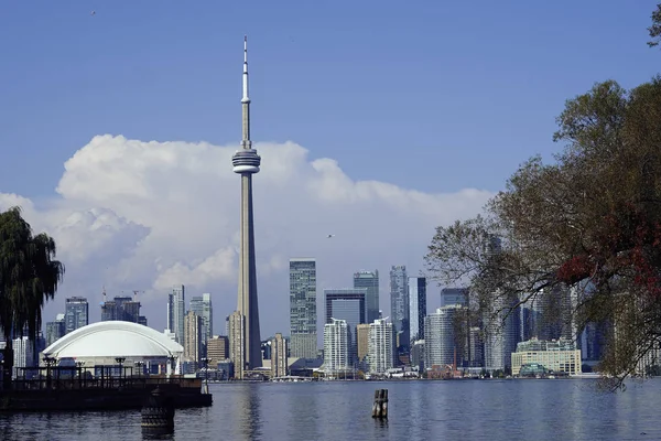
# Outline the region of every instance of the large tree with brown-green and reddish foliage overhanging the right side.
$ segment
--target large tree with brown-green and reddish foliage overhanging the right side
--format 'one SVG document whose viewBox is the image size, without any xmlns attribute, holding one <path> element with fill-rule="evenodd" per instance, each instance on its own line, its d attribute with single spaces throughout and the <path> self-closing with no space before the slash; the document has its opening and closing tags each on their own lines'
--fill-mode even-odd
<svg viewBox="0 0 661 441">
<path fill-rule="evenodd" d="M 596 84 L 557 123 L 563 151 L 523 163 L 484 215 L 438 227 L 427 270 L 468 286 L 481 309 L 573 290 L 565 308 L 577 330 L 611 330 L 599 368 L 619 386 L 660 364 L 661 78 L 632 90 Z"/>
</svg>

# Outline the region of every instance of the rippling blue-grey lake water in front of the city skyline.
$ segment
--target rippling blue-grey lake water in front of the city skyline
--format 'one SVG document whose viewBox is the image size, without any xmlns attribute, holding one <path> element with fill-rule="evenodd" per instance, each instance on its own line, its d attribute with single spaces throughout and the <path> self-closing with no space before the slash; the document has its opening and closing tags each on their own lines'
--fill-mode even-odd
<svg viewBox="0 0 661 441">
<path fill-rule="evenodd" d="M 661 380 L 598 391 L 592 379 L 214 384 L 181 409 L 174 440 L 659 440 Z M 371 418 L 376 389 L 389 419 Z M 141 440 L 140 412 L 0 415 L 0 439 Z"/>
</svg>

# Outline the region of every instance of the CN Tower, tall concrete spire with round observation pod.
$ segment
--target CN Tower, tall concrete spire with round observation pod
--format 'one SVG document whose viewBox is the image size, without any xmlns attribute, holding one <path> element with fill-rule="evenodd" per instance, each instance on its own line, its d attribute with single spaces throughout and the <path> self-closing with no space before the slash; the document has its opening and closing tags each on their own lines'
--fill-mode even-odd
<svg viewBox="0 0 661 441">
<path fill-rule="evenodd" d="M 241 98 L 243 136 L 241 149 L 231 158 L 234 172 L 241 175 L 241 250 L 239 257 L 239 299 L 237 311 L 243 316 L 242 366 L 261 367 L 261 337 L 257 304 L 257 268 L 254 262 L 254 227 L 252 214 L 252 175 L 259 173 L 261 158 L 250 141 L 250 98 L 248 97 L 248 39 L 243 37 L 243 97 Z"/>
</svg>

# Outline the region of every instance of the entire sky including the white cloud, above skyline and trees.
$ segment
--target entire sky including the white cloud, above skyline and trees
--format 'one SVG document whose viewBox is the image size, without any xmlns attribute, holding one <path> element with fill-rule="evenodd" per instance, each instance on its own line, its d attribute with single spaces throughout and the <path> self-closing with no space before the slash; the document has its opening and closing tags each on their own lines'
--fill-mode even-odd
<svg viewBox="0 0 661 441">
<path fill-rule="evenodd" d="M 2 1 L 0 209 L 22 205 L 67 265 L 46 320 L 64 297 L 100 301 L 105 284 L 144 290 L 162 329 L 165 293 L 183 283 L 212 292 L 224 323 L 236 308 L 230 157 L 248 34 L 263 334 L 286 334 L 291 257 L 317 258 L 317 299 L 379 269 L 388 315 L 390 266 L 418 275 L 435 226 L 477 214 L 528 158 L 551 160 L 567 98 L 658 73 L 654 8 Z"/>
</svg>

